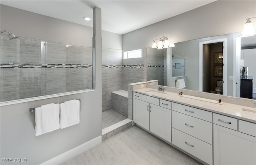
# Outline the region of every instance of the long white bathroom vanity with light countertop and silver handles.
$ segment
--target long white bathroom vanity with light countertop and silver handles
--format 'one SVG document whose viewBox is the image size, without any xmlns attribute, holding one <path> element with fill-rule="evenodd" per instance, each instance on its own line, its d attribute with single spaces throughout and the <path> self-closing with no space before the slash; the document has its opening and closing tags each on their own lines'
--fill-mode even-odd
<svg viewBox="0 0 256 165">
<path fill-rule="evenodd" d="M 204 164 L 256 164 L 256 108 L 170 90 L 135 87 L 134 123 Z"/>
</svg>

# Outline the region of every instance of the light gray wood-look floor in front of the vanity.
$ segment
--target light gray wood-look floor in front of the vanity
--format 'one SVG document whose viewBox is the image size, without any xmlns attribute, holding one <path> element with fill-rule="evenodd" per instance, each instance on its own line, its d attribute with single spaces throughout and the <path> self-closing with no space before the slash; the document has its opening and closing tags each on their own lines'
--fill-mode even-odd
<svg viewBox="0 0 256 165">
<path fill-rule="evenodd" d="M 192 157 L 133 126 L 61 165 L 202 165 Z"/>
</svg>

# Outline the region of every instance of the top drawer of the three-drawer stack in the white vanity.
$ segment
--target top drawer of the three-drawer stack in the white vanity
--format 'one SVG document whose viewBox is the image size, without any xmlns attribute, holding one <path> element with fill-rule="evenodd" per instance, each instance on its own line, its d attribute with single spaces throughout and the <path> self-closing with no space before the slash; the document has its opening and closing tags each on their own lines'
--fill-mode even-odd
<svg viewBox="0 0 256 165">
<path fill-rule="evenodd" d="M 172 102 L 172 110 L 212 122 L 212 112 Z"/>
</svg>

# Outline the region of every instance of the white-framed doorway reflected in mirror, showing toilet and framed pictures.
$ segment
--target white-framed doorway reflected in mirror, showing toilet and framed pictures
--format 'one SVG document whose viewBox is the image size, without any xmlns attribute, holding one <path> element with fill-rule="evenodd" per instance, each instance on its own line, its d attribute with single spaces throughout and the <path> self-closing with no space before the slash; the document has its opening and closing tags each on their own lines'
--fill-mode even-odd
<svg viewBox="0 0 256 165">
<path fill-rule="evenodd" d="M 199 43 L 199 91 L 227 95 L 227 38 Z M 218 86 L 222 91 L 216 90 Z"/>
</svg>

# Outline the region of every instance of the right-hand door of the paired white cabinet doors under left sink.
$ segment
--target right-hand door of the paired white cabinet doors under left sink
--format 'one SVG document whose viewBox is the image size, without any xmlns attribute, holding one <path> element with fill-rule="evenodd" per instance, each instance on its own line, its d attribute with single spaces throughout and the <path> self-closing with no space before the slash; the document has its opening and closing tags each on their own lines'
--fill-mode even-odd
<svg viewBox="0 0 256 165">
<path fill-rule="evenodd" d="M 171 110 L 150 104 L 150 132 L 171 141 Z"/>
</svg>

